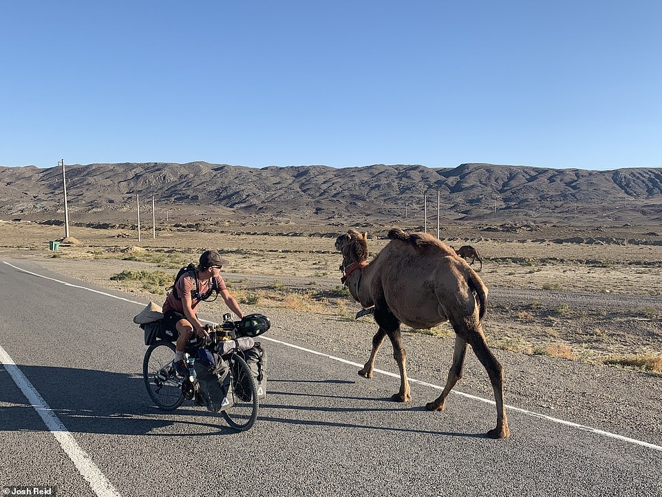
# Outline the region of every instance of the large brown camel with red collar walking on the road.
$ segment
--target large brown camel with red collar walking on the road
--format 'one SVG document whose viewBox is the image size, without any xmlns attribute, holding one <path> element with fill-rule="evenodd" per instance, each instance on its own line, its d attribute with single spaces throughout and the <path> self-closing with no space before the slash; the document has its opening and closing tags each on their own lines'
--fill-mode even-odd
<svg viewBox="0 0 662 497">
<path fill-rule="evenodd" d="M 471 345 L 487 370 L 496 401 L 497 425 L 487 435 L 509 436 L 503 368 L 487 347 L 480 326 L 487 310 L 487 287 L 465 260 L 456 257 L 449 246 L 435 237 L 427 233 L 409 234 L 401 229 L 392 229 L 388 237 L 391 241 L 372 262 L 367 262 L 367 233 L 362 235 L 350 229 L 335 244 L 343 254 L 341 281 L 363 308 L 374 306 L 374 319 L 379 326 L 372 339 L 370 358 L 359 375 L 372 378 L 377 351 L 385 337 L 389 337 L 401 378 L 400 392 L 393 399 L 410 401 L 407 355 L 400 324 L 420 329 L 449 321 L 456 333 L 453 363 L 441 395 L 425 407 L 431 411 L 444 410 L 446 397 L 462 377 L 467 346 Z"/>
</svg>

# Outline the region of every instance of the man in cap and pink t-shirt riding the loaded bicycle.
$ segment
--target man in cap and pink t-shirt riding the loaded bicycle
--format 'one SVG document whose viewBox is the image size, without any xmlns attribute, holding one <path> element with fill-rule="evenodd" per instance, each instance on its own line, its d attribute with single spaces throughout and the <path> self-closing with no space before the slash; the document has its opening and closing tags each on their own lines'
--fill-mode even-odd
<svg viewBox="0 0 662 497">
<path fill-rule="evenodd" d="M 180 376 L 187 376 L 188 369 L 184 363 L 184 348 L 193 332 L 198 337 L 206 337 L 209 333 L 204 325 L 197 319 L 197 304 L 209 298 L 214 291 L 221 295 L 226 306 L 239 318 L 244 312 L 239 307 L 237 299 L 228 290 L 220 275 L 221 268 L 228 261 L 221 257 L 217 251 L 206 251 L 200 255 L 200 264 L 195 271 L 186 272 L 173 286 L 173 290 L 166 297 L 163 304 L 163 319 L 170 329 L 178 332 L 175 343 L 175 357 L 173 366 Z"/>
</svg>

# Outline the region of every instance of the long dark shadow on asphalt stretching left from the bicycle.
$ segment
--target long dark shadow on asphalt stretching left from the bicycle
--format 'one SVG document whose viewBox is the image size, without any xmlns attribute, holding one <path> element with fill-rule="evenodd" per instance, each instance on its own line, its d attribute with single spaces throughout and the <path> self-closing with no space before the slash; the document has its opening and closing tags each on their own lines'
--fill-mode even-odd
<svg viewBox="0 0 662 497">
<path fill-rule="evenodd" d="M 54 366 L 18 367 L 47 403 L 50 413 L 72 433 L 191 436 L 191 426 L 197 426 L 200 435 L 237 433 L 220 414 L 197 407 L 191 401 L 185 401 L 175 411 L 156 408 L 147 395 L 142 374 Z M 0 385 L 3 385 L 0 389 L 3 431 L 47 430 L 37 412 L 41 409 L 30 404 L 2 366 Z M 182 425 L 181 434 L 178 425 Z"/>
</svg>

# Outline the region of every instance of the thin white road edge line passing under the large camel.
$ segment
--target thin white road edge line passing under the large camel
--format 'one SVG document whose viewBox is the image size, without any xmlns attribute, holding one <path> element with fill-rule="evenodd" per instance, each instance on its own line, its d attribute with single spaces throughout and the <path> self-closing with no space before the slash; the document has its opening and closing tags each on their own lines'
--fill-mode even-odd
<svg viewBox="0 0 662 497">
<path fill-rule="evenodd" d="M 63 285 L 74 286 L 75 288 L 81 288 L 83 290 L 89 290 L 90 292 L 99 293 L 100 295 L 106 295 L 107 297 L 112 297 L 114 299 L 124 300 L 125 302 L 131 302 L 131 304 L 138 304 L 140 306 L 146 306 L 147 305 L 143 302 L 136 302 L 134 300 L 129 300 L 129 299 L 125 299 L 125 298 L 122 298 L 122 297 L 117 297 L 116 295 L 111 295 L 110 293 L 105 293 L 105 292 L 101 292 L 99 290 L 94 290 L 94 288 L 87 288 L 87 286 L 74 285 L 74 284 L 71 284 L 71 283 L 63 282 L 59 279 L 39 275 L 37 273 L 31 273 L 30 271 L 25 271 L 25 269 L 21 269 L 17 266 L 13 266 L 12 264 L 10 264 L 6 261 L 3 261 L 3 262 L 4 262 L 4 264 L 7 264 L 8 266 L 11 266 L 12 268 L 17 269 L 18 271 L 22 271 L 23 273 L 28 273 L 30 275 L 38 276 L 38 277 L 45 278 L 45 279 L 50 279 L 54 282 L 58 282 L 58 283 L 61 283 Z M 204 321 L 204 319 L 202 319 L 202 321 Z M 211 321 L 205 321 L 205 322 L 211 322 Z M 290 348 L 295 348 L 297 350 L 301 350 L 302 352 L 308 352 L 309 354 L 326 357 L 327 359 L 332 359 L 333 361 L 338 361 L 338 362 L 341 362 L 341 363 L 344 363 L 344 364 L 349 364 L 350 366 L 357 366 L 359 368 L 363 368 L 363 364 L 359 364 L 359 363 L 356 363 L 354 361 L 348 361 L 348 359 L 343 359 L 342 357 L 335 357 L 335 356 L 332 356 L 332 355 L 325 354 L 323 352 L 317 352 L 317 350 L 312 350 L 312 349 L 309 349 L 309 348 L 300 347 L 300 346 L 294 345 L 292 343 L 288 343 L 286 341 L 277 340 L 277 339 L 274 339 L 274 338 L 266 337 L 264 335 L 262 335 L 261 339 L 266 339 L 268 341 L 273 341 L 274 343 L 280 343 L 281 345 L 284 345 L 284 346 L 287 346 L 287 347 L 290 347 Z M 374 372 L 377 372 L 379 374 L 384 374 L 385 376 L 389 376 L 389 377 L 394 377 L 394 378 L 398 378 L 398 379 L 400 378 L 400 374 L 392 373 L 392 372 L 389 372 L 389 371 L 375 369 Z M 435 385 L 434 383 L 427 383 L 426 381 L 420 381 L 420 380 L 417 380 L 417 379 L 409 378 L 409 382 L 410 383 L 417 383 L 418 385 L 425 385 L 427 387 L 434 388 L 435 390 L 443 390 L 442 386 Z M 475 401 L 480 401 L 480 402 L 495 405 L 494 401 L 491 401 L 489 399 L 483 399 L 482 397 L 479 397 L 479 396 L 476 396 L 476 395 L 466 394 L 465 392 L 460 392 L 459 390 L 456 390 L 456 389 L 451 390 L 451 393 L 456 394 L 456 395 L 465 396 L 468 399 L 473 399 Z M 590 426 L 580 425 L 579 423 L 573 423 L 573 421 L 565 421 L 564 419 L 558 419 L 558 418 L 554 418 L 553 416 L 547 416 L 546 414 L 540 414 L 540 412 L 529 411 L 529 410 L 526 410 L 526 409 L 517 408 L 513 405 L 507 405 L 506 404 L 506 408 L 509 409 L 509 410 L 521 412 L 522 414 L 526 414 L 527 416 L 532 416 L 534 418 L 545 419 L 546 421 L 551 421 L 552 423 L 557 423 L 559 425 L 570 426 L 570 427 L 576 428 L 577 430 L 582 430 L 582 431 L 585 431 L 585 432 L 595 433 L 597 435 L 606 436 L 608 438 L 615 438 L 617 440 L 620 440 L 620 441 L 623 441 L 623 442 L 626 442 L 626 443 L 632 443 L 634 445 L 641 445 L 642 447 L 648 447 L 649 449 L 658 450 L 658 451 L 662 452 L 662 445 L 655 445 L 654 443 L 648 443 L 648 442 L 644 442 L 644 441 L 641 441 L 641 440 L 637 440 L 637 438 L 630 438 L 628 436 L 623 436 L 623 435 L 619 435 L 619 434 L 616 434 L 616 433 L 606 432 L 604 430 L 598 430 L 597 428 L 593 428 L 593 427 L 590 427 Z"/>
</svg>

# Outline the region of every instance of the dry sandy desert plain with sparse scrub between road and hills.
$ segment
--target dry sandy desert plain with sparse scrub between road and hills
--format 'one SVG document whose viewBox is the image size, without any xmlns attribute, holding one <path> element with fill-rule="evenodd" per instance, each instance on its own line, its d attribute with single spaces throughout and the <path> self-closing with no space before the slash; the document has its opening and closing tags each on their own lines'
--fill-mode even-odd
<svg viewBox="0 0 662 497">
<path fill-rule="evenodd" d="M 351 319 L 360 309 L 340 284 L 335 237 L 366 231 L 372 254 L 392 226 L 224 222 L 136 229 L 0 221 L 0 257 L 162 302 L 177 269 L 205 249 L 230 260 L 222 274 L 240 302 Z M 420 226 L 400 226 L 414 231 Z M 428 226 L 436 234 L 436 226 Z M 660 226 L 444 224 L 440 240 L 474 246 L 489 288 L 491 346 L 528 355 L 614 363 L 662 374 Z M 50 242 L 58 241 L 58 250 Z M 473 265 L 477 270 L 480 264 Z M 223 312 L 221 309 L 220 312 Z M 361 319 L 372 319 L 363 317 Z M 447 324 L 411 330 L 448 339 Z"/>
</svg>

